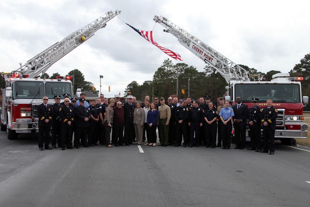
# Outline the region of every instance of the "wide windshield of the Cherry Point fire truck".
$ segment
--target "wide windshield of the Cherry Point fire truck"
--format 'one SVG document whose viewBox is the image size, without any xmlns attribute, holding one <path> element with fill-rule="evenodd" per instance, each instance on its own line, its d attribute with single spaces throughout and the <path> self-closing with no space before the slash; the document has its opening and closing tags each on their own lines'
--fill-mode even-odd
<svg viewBox="0 0 310 207">
<path fill-rule="evenodd" d="M 234 100 L 242 98 L 242 102 L 251 102 L 258 98 L 259 102 L 271 99 L 274 103 L 300 103 L 300 85 L 292 83 L 237 83 L 234 85 Z"/>
</svg>

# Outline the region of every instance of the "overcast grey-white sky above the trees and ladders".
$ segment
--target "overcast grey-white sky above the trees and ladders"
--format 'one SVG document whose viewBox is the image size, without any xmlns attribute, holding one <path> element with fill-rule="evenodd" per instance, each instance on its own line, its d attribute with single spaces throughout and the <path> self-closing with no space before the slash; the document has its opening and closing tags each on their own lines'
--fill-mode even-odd
<svg viewBox="0 0 310 207">
<path fill-rule="evenodd" d="M 261 72 L 289 72 L 310 52 L 310 1 L 124 1 L 124 0 L 2 0 L 0 1 L 0 67 L 11 72 L 69 34 L 106 12 L 122 11 L 93 37 L 47 70 L 66 75 L 78 69 L 106 97 L 124 94 L 132 81 L 152 80 L 154 72 L 170 58 L 148 43 L 126 22 L 181 55 L 198 71 L 205 66 L 179 44 L 154 15 L 164 16 L 236 64 Z M 154 27 L 155 26 L 155 27 Z M 153 29 L 154 28 L 154 29 Z M 111 92 L 108 92 L 108 86 Z M 134 94 L 133 94 L 134 95 Z"/>
</svg>

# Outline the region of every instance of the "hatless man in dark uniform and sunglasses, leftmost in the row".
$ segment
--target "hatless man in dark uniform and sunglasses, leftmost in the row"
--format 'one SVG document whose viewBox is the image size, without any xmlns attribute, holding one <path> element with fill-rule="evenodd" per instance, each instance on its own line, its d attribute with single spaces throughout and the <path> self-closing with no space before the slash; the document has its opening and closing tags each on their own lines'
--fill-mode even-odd
<svg viewBox="0 0 310 207">
<path fill-rule="evenodd" d="M 48 141 L 50 137 L 50 130 L 51 130 L 51 119 L 53 117 L 53 110 L 50 105 L 47 104 L 48 98 L 45 96 L 43 97 L 43 103 L 37 107 L 37 113 L 39 117 L 38 126 L 39 126 L 39 141 L 38 146 L 40 150 L 52 150 L 50 143 Z M 45 145 L 43 149 L 43 137 L 45 135 Z"/>
</svg>

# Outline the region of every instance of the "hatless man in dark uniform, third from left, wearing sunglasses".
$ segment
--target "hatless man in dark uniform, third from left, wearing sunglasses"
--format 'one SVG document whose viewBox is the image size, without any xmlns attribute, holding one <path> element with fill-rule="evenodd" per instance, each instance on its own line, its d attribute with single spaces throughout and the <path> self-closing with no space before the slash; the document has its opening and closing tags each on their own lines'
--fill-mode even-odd
<svg viewBox="0 0 310 207">
<path fill-rule="evenodd" d="M 72 129 L 74 121 L 74 110 L 69 106 L 69 98 L 64 99 L 64 105 L 59 109 L 60 128 L 61 128 L 61 150 L 73 149 L 72 147 Z"/>
</svg>

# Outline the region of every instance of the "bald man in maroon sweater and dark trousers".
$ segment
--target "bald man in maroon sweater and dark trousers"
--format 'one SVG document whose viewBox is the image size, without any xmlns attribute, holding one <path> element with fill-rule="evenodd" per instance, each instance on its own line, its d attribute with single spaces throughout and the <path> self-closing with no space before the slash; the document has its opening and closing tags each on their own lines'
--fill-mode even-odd
<svg viewBox="0 0 310 207">
<path fill-rule="evenodd" d="M 118 101 L 116 107 L 113 108 L 113 128 L 112 128 L 112 142 L 115 146 L 125 146 L 124 143 L 124 109 L 122 108 L 122 102 Z"/>
</svg>

